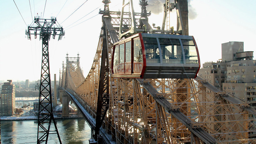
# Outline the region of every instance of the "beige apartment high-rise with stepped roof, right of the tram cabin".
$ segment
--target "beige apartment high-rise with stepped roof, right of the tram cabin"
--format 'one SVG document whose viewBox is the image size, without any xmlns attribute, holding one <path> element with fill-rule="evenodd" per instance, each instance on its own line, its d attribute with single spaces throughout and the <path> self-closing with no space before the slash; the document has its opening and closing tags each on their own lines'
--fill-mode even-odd
<svg viewBox="0 0 256 144">
<path fill-rule="evenodd" d="M 243 42 L 223 43 L 222 60 L 204 63 L 198 74 L 231 97 L 256 106 L 256 60 L 252 51 L 244 52 Z M 248 137 L 256 138 L 256 133 L 249 132 Z"/>
</svg>

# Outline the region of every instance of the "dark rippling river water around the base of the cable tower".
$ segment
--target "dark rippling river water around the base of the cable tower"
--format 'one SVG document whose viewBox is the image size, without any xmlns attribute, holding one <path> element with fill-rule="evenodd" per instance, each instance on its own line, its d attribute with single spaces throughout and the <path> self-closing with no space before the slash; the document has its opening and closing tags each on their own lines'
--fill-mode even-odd
<svg viewBox="0 0 256 144">
<path fill-rule="evenodd" d="M 88 144 L 91 130 L 84 118 L 55 119 L 63 144 Z M 37 143 L 37 120 L 1 121 L 2 144 Z M 52 123 L 51 129 L 54 128 Z M 59 143 L 57 134 L 49 134 L 48 144 Z"/>
</svg>

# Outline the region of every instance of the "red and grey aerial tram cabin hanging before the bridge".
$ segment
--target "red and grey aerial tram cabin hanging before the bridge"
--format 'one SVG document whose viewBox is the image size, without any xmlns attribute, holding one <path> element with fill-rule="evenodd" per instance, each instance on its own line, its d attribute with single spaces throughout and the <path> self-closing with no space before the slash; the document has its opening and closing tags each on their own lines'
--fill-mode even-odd
<svg viewBox="0 0 256 144">
<path fill-rule="evenodd" d="M 196 78 L 200 58 L 193 36 L 138 33 L 114 44 L 111 69 L 118 78 Z"/>
</svg>

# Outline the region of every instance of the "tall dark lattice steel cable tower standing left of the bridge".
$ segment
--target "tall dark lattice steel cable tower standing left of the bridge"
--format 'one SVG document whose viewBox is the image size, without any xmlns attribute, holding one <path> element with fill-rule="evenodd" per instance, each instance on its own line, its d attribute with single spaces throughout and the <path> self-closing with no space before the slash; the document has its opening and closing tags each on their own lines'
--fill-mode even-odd
<svg viewBox="0 0 256 144">
<path fill-rule="evenodd" d="M 49 52 L 48 42 L 51 38 L 55 39 L 56 35 L 59 35 L 58 40 L 61 40 L 65 35 L 63 28 L 56 24 L 57 20 L 54 17 L 51 19 L 40 19 L 39 16 L 34 18 L 34 24 L 28 26 L 26 35 L 31 40 L 31 34 L 35 39 L 39 35 L 42 40 L 42 67 L 41 67 L 41 81 L 39 86 L 39 107 L 38 107 L 38 132 L 37 143 L 47 144 L 49 134 L 57 134 L 59 143 L 61 144 L 59 132 L 53 117 L 52 107 L 52 91 L 51 91 L 51 78 L 49 67 Z M 31 33 L 34 31 L 34 33 Z M 55 130 L 50 130 L 51 122 L 53 121 Z M 48 127 L 47 127 L 48 125 Z"/>
</svg>

